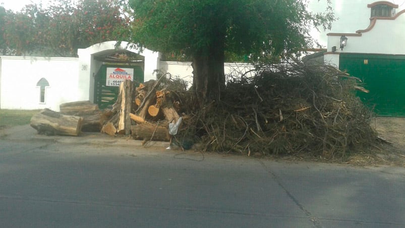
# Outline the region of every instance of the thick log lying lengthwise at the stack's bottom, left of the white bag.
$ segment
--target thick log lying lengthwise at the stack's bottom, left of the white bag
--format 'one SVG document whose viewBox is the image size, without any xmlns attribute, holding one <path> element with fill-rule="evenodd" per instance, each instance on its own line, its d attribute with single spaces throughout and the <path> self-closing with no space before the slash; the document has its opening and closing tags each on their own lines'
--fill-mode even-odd
<svg viewBox="0 0 405 228">
<path fill-rule="evenodd" d="M 132 137 L 134 139 L 144 139 L 153 141 L 170 140 L 170 135 L 167 127 L 158 126 L 157 124 L 138 124 L 131 127 Z M 153 137 L 152 137 L 153 136 Z"/>
</svg>

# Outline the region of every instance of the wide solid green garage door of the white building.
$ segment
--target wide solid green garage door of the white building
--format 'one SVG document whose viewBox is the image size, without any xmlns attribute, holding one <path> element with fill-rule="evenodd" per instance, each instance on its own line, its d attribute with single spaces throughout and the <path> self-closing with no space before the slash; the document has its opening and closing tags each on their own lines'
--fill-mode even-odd
<svg viewBox="0 0 405 228">
<path fill-rule="evenodd" d="M 339 69 L 363 80 L 358 96 L 378 116 L 405 117 L 405 55 L 340 53 Z"/>
</svg>

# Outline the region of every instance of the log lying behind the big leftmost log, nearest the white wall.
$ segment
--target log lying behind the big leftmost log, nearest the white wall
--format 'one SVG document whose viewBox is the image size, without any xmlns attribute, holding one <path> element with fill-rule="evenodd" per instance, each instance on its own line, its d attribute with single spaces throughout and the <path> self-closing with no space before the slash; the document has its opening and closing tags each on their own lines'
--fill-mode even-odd
<svg viewBox="0 0 405 228">
<path fill-rule="evenodd" d="M 93 104 L 88 100 L 63 103 L 59 105 L 59 108 L 63 115 L 79 117 L 93 115 L 95 111 L 99 110 L 97 104 Z"/>
</svg>

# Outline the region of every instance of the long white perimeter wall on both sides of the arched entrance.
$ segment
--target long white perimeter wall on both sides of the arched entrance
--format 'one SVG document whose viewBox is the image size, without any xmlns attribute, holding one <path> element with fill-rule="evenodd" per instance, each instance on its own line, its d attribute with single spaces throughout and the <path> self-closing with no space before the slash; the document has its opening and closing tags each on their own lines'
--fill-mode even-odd
<svg viewBox="0 0 405 228">
<path fill-rule="evenodd" d="M 160 62 L 158 66 L 161 71 L 188 81 L 189 87 L 192 85 L 191 62 Z M 93 64 L 91 70 L 96 72 L 99 67 L 100 64 Z M 225 74 L 240 75 L 253 69 L 248 64 L 224 64 Z M 88 77 L 81 77 L 83 70 L 87 69 L 83 69 L 79 58 L 0 56 L 0 108 L 59 111 L 62 103 L 87 100 L 87 94 L 93 92 L 94 85 L 90 84 L 94 80 L 89 84 Z M 49 83 L 44 103 L 40 102 L 40 87 L 36 86 L 41 78 Z M 145 77 L 145 81 L 150 79 L 155 78 Z"/>
</svg>

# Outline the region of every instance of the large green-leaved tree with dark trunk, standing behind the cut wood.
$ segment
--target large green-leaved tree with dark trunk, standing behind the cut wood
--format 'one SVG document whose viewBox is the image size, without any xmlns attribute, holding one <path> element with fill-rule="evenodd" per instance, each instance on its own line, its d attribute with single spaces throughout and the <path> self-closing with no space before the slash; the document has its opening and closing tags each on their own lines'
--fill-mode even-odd
<svg viewBox="0 0 405 228">
<path fill-rule="evenodd" d="M 307 1 L 130 0 L 132 41 L 190 56 L 202 105 L 220 99 L 225 51 L 264 61 L 312 47 L 310 26 L 330 27 L 334 17 L 330 7 L 323 14 L 309 12 Z"/>
</svg>

